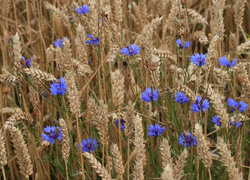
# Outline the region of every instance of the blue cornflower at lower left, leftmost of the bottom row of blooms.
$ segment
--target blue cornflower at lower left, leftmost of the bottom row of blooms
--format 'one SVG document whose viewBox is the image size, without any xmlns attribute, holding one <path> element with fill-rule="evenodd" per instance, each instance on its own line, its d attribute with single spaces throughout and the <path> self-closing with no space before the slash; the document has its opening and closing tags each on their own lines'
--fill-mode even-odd
<svg viewBox="0 0 250 180">
<path fill-rule="evenodd" d="M 45 141 L 50 142 L 51 144 L 54 144 L 56 142 L 56 139 L 61 141 L 62 139 L 62 131 L 61 128 L 59 127 L 54 127 L 54 126 L 47 126 L 44 129 L 44 132 L 47 133 L 42 133 L 42 139 Z"/>
</svg>

